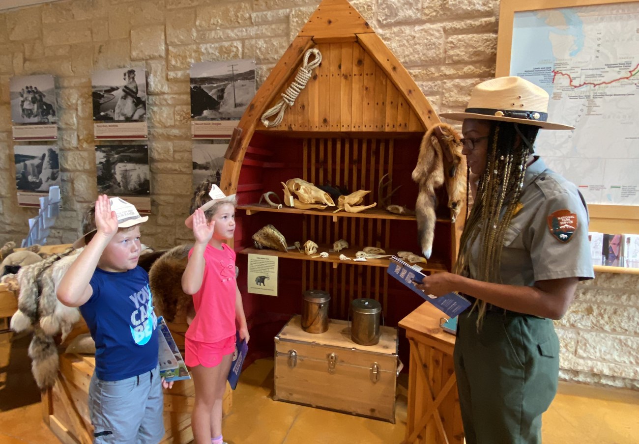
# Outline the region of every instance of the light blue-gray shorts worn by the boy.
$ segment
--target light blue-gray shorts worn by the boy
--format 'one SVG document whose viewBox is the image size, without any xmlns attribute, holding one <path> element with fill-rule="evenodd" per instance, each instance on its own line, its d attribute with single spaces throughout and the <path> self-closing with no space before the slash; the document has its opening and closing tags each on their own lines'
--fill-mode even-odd
<svg viewBox="0 0 639 444">
<path fill-rule="evenodd" d="M 120 381 L 93 372 L 89 415 L 96 444 L 157 444 L 164 436 L 164 395 L 159 367 Z"/>
</svg>

